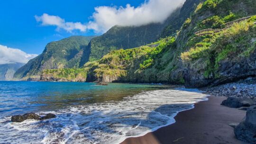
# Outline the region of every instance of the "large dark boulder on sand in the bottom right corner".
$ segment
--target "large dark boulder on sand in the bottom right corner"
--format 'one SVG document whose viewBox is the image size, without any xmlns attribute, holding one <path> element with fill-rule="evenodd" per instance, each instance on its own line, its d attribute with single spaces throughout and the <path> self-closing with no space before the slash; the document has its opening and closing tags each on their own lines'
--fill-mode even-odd
<svg viewBox="0 0 256 144">
<path fill-rule="evenodd" d="M 256 106 L 247 109 L 246 119 L 234 129 L 237 139 L 256 144 Z"/>
</svg>

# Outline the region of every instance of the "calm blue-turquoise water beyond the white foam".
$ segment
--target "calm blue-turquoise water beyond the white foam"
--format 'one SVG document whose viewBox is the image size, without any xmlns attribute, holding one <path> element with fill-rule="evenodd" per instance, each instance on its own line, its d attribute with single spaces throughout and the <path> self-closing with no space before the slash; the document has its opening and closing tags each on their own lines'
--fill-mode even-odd
<svg viewBox="0 0 256 144">
<path fill-rule="evenodd" d="M 66 106 L 121 100 L 143 90 L 169 89 L 166 85 L 88 82 L 0 81 L 0 117 Z"/>
</svg>

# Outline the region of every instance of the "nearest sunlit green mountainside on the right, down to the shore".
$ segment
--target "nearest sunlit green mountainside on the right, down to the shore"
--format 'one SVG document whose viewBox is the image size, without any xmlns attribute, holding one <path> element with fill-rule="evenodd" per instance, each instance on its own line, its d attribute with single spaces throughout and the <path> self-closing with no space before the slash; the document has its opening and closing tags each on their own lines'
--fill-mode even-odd
<svg viewBox="0 0 256 144">
<path fill-rule="evenodd" d="M 255 76 L 255 15 L 252 0 L 206 0 L 175 37 L 87 63 L 87 81 L 204 87 Z"/>
</svg>

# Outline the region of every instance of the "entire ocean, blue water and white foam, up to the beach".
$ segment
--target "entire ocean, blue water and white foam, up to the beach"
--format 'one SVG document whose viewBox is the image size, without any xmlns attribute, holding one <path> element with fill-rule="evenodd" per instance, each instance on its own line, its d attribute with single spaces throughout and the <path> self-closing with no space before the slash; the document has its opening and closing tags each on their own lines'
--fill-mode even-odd
<svg viewBox="0 0 256 144">
<path fill-rule="evenodd" d="M 0 81 L 0 144 L 118 144 L 175 123 L 178 112 L 207 100 L 170 85 Z M 12 115 L 56 114 L 12 123 Z"/>
</svg>

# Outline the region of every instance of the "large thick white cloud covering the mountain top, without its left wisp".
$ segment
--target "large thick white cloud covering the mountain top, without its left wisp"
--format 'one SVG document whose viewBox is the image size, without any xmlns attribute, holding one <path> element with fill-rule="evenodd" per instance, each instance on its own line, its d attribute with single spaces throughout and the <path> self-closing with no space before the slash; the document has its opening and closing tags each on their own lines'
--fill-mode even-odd
<svg viewBox="0 0 256 144">
<path fill-rule="evenodd" d="M 115 25 L 141 26 L 149 23 L 161 23 L 185 0 L 148 0 L 135 8 L 97 7 L 89 22 L 88 28 L 98 32 L 105 32 Z"/>
</svg>

